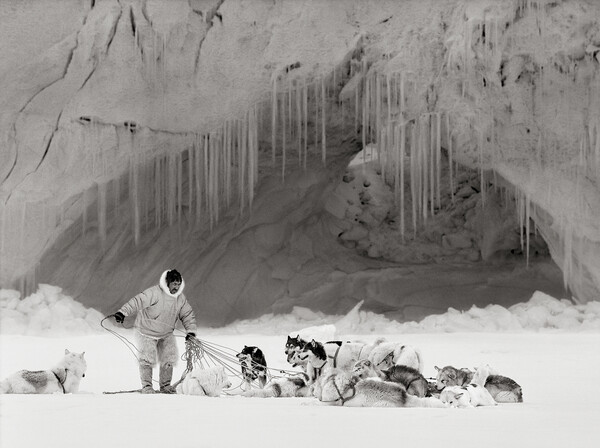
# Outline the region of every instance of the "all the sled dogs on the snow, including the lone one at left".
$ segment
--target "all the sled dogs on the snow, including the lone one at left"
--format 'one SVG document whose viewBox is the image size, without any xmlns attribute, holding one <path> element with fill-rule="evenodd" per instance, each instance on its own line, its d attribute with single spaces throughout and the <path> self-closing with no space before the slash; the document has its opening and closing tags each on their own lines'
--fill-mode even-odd
<svg viewBox="0 0 600 448">
<path fill-rule="evenodd" d="M 435 367 L 437 378 L 422 374 L 417 349 L 378 339 L 373 344 L 304 341 L 288 336 L 287 361 L 301 372 L 268 377 L 262 350 L 244 346 L 237 359 L 245 397 L 316 397 L 320 402 L 357 407 L 474 407 L 523 401 L 521 386 L 492 374 L 489 366 L 475 371 Z M 0 393 L 76 393 L 87 369 L 84 353 L 65 350 L 52 369 L 21 370 L 0 382 Z M 218 397 L 232 386 L 224 366 L 196 368 L 176 386 L 176 393 Z"/>
</svg>

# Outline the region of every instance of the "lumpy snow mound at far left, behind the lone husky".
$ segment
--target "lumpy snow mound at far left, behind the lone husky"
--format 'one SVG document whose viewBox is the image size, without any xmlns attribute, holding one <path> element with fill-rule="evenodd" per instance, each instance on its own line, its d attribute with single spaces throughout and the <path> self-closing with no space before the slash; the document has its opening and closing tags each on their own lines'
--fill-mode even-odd
<svg viewBox="0 0 600 448">
<path fill-rule="evenodd" d="M 21 299 L 19 291 L 0 289 L 0 329 L 3 334 L 63 336 L 101 331 L 104 316 L 62 293 L 58 286 L 40 284 Z"/>
</svg>

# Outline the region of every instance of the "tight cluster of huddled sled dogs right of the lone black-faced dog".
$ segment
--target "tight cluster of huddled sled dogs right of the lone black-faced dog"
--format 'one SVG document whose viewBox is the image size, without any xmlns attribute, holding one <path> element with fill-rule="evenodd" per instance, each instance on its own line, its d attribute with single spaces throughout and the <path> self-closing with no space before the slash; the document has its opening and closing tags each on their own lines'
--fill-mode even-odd
<svg viewBox="0 0 600 448">
<path fill-rule="evenodd" d="M 436 366 L 436 381 L 430 383 L 422 374 L 418 349 L 382 339 L 321 343 L 288 336 L 285 353 L 287 362 L 303 372 L 274 378 L 245 396 L 314 396 L 326 404 L 356 407 L 463 408 L 523 401 L 521 386 L 492 374 L 488 365 L 475 371 Z"/>
</svg>

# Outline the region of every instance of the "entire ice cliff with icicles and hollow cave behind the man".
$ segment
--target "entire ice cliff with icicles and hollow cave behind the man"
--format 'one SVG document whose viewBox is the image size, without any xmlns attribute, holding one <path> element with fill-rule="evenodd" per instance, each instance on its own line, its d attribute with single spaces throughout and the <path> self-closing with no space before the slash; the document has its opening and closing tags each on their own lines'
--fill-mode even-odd
<svg viewBox="0 0 600 448">
<path fill-rule="evenodd" d="M 600 2 L 9 0 L 0 22 L 3 287 L 108 312 L 176 267 L 201 322 L 410 319 L 493 302 L 512 223 L 598 298 Z M 380 217 L 342 191 L 377 181 L 348 167 L 367 146 Z"/>
</svg>

